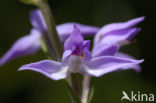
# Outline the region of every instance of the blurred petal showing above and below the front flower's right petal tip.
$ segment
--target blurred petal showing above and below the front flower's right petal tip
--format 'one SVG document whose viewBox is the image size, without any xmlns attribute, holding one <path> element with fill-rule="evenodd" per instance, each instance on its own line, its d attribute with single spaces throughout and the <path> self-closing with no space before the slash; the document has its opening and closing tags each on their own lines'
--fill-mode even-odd
<svg viewBox="0 0 156 103">
<path fill-rule="evenodd" d="M 122 58 L 135 59 L 134 57 L 132 57 L 132 56 L 130 56 L 128 54 L 122 53 L 122 52 L 116 53 L 115 56 L 122 57 Z M 131 65 L 127 65 L 125 67 L 122 67 L 122 69 L 128 69 L 128 68 L 132 68 L 132 69 L 136 70 L 137 72 L 141 71 L 141 67 L 138 64 L 131 64 Z"/>
</svg>

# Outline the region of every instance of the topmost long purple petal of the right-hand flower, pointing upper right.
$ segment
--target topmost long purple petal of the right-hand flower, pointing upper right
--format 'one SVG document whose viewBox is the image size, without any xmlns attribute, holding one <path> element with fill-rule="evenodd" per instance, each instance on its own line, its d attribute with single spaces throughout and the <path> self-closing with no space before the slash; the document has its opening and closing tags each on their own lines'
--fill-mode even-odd
<svg viewBox="0 0 156 103">
<path fill-rule="evenodd" d="M 134 18 L 134 19 L 126 21 L 126 22 L 112 23 L 112 24 L 107 24 L 107 25 L 103 26 L 96 33 L 96 36 L 94 38 L 94 45 L 96 45 L 101 40 L 101 37 L 109 34 L 109 32 L 130 29 L 130 28 L 134 27 L 135 25 L 139 24 L 140 22 L 142 22 L 144 19 L 145 19 L 145 17 L 143 16 L 143 17 Z"/>
</svg>

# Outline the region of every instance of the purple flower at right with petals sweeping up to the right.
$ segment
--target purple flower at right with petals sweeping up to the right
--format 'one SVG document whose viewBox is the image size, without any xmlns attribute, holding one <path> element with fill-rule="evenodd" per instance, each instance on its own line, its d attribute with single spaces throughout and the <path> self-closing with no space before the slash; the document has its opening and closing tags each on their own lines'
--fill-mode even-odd
<svg viewBox="0 0 156 103">
<path fill-rule="evenodd" d="M 141 30 L 134 27 L 144 20 L 145 17 L 139 17 L 127 22 L 112 23 L 103 26 L 97 33 L 94 39 L 94 45 L 102 43 L 117 43 L 125 45 Z"/>
</svg>

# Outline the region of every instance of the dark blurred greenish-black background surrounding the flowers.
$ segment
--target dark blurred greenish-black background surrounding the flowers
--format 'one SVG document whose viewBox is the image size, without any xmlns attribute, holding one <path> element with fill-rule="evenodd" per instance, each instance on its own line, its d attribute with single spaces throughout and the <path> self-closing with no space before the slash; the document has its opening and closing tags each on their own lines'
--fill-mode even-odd
<svg viewBox="0 0 156 103">
<path fill-rule="evenodd" d="M 139 16 L 146 20 L 136 43 L 121 48 L 132 56 L 144 58 L 141 73 L 119 71 L 93 78 L 92 103 L 121 103 L 122 91 L 156 94 L 156 2 L 155 0 L 49 0 L 56 24 L 75 21 L 103 26 Z M 0 1 L 0 57 L 19 37 L 29 33 L 29 13 L 35 9 L 18 0 Z M 17 72 L 18 67 L 45 59 L 42 51 L 11 61 L 0 67 L 0 103 L 70 103 L 61 81 L 54 82 L 33 71 Z"/>
</svg>

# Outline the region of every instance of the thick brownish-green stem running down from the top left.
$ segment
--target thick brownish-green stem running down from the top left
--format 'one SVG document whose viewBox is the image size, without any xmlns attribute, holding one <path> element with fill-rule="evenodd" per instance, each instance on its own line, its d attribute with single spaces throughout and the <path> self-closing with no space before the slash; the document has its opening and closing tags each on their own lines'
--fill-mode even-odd
<svg viewBox="0 0 156 103">
<path fill-rule="evenodd" d="M 57 34 L 56 31 L 56 27 L 55 27 L 55 21 L 53 18 L 53 14 L 50 10 L 50 7 L 47 3 L 47 0 L 38 0 L 38 7 L 40 8 L 45 22 L 47 24 L 47 28 L 48 28 L 48 39 L 50 43 L 46 42 L 46 45 L 50 45 L 48 48 L 49 52 L 52 52 L 52 57 L 55 60 L 60 61 L 61 57 L 62 57 L 62 52 L 63 52 L 63 47 L 61 45 L 59 36 Z"/>
</svg>

